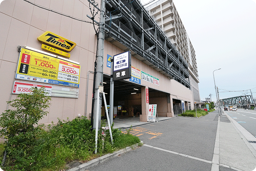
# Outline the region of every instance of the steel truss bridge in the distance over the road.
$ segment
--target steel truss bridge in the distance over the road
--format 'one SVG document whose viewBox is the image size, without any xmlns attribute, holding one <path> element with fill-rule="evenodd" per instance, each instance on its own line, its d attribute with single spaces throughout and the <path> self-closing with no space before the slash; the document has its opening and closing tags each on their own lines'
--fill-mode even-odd
<svg viewBox="0 0 256 171">
<path fill-rule="evenodd" d="M 247 105 L 253 105 L 253 99 L 252 96 L 237 96 L 237 97 L 231 97 L 227 99 L 220 99 L 220 103 L 223 106 L 247 106 Z"/>
</svg>

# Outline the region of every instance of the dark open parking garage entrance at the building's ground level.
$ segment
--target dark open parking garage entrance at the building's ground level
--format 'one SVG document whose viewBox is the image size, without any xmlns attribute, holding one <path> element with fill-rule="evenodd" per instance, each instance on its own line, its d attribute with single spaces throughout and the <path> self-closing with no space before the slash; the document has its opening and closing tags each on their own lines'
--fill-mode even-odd
<svg viewBox="0 0 256 171">
<path fill-rule="evenodd" d="M 110 77 L 104 75 L 103 80 L 106 103 L 109 105 Z M 148 89 L 148 95 L 145 95 L 145 89 Z M 147 98 L 146 96 L 148 96 L 148 103 L 145 100 Z M 117 118 L 126 120 L 137 118 L 142 121 L 141 116 L 143 115 L 145 117 L 147 114 L 147 104 L 157 104 L 158 116 L 171 117 L 170 94 L 127 80 L 114 82 L 113 104 L 113 115 L 116 115 Z M 104 117 L 106 117 L 106 112 L 104 101 L 102 101 L 102 118 Z M 115 118 L 113 122 L 115 122 Z"/>
</svg>

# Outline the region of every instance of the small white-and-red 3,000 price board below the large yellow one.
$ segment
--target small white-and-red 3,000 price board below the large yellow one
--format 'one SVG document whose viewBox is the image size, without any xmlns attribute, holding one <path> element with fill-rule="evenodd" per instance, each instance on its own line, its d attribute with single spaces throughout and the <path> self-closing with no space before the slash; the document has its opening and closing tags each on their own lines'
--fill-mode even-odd
<svg viewBox="0 0 256 171">
<path fill-rule="evenodd" d="M 45 85 L 30 84 L 30 83 L 14 81 L 12 94 L 30 93 L 31 87 L 41 88 L 42 86 L 45 86 Z M 47 93 L 45 96 L 52 96 L 52 86 L 45 86 L 45 92 Z"/>
</svg>

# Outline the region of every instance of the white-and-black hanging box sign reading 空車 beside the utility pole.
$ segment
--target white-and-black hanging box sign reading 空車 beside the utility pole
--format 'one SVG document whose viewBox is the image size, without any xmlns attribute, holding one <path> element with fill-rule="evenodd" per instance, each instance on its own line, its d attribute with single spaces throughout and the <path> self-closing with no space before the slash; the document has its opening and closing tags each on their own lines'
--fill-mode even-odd
<svg viewBox="0 0 256 171">
<path fill-rule="evenodd" d="M 113 81 L 131 78 L 131 52 L 113 56 Z"/>
</svg>

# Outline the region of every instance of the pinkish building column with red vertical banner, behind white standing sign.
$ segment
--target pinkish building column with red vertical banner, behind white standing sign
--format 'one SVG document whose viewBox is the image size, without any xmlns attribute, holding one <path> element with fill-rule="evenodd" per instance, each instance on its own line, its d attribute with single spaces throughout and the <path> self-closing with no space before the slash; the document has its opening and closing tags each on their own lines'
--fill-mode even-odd
<svg viewBox="0 0 256 171">
<path fill-rule="evenodd" d="M 148 86 L 141 87 L 141 115 L 139 115 L 139 121 L 147 122 L 147 112 L 149 105 Z"/>
</svg>

